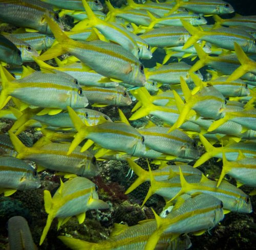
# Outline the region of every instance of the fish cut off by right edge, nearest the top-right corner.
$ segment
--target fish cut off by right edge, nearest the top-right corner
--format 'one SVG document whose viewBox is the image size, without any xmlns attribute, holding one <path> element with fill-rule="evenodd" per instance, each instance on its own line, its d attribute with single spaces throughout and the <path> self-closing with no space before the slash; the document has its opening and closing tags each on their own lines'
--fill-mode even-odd
<svg viewBox="0 0 256 250">
<path fill-rule="evenodd" d="M 215 27 L 218 26 L 244 26 L 256 29 L 256 16 L 242 16 L 236 13 L 232 18 L 222 19 L 218 15 L 212 16 L 215 20 Z"/>
</svg>

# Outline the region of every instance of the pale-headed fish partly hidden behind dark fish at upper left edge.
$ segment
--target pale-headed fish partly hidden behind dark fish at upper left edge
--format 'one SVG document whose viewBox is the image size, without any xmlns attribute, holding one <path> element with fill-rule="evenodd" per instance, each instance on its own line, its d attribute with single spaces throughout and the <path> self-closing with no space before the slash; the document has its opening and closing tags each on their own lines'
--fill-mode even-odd
<svg viewBox="0 0 256 250">
<path fill-rule="evenodd" d="M 39 54 L 33 48 L 29 43 L 14 37 L 14 36 L 9 36 L 8 33 L 2 33 L 7 39 L 9 39 L 11 42 L 15 44 L 15 46 L 22 52 L 22 61 L 23 62 L 33 62 L 34 59 L 33 57 L 38 57 Z"/>
</svg>

